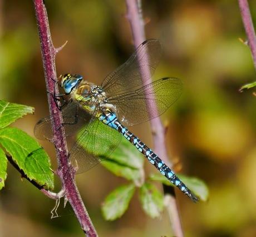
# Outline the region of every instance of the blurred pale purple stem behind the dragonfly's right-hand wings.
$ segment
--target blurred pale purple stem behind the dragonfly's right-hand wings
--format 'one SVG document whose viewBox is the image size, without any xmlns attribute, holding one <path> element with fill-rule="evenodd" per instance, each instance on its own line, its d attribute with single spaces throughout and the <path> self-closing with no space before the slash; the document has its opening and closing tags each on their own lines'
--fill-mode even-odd
<svg viewBox="0 0 256 237">
<path fill-rule="evenodd" d="M 141 9 L 141 1 L 140 0 L 126 0 L 127 14 L 126 17 L 130 22 L 132 36 L 134 39 L 135 48 L 139 47 L 139 45 L 146 40 L 145 31 L 144 31 L 144 20 L 142 17 L 142 9 Z M 146 84 L 148 77 L 143 77 L 143 75 L 147 75 L 147 73 L 141 73 L 143 83 Z M 152 102 L 151 102 L 152 103 Z M 152 105 L 150 104 L 149 107 Z M 156 107 L 156 105 L 153 105 Z M 155 118 L 150 120 L 152 136 L 154 141 L 154 152 L 159 155 L 161 159 L 164 160 L 166 164 L 171 166 L 171 163 L 168 159 L 168 154 L 165 147 L 165 129 L 163 124 L 161 123 L 160 118 Z M 169 195 L 169 194 L 168 194 Z M 174 231 L 175 236 L 182 237 L 183 230 L 181 228 L 179 212 L 176 205 L 175 197 L 170 195 L 168 199 L 169 203 L 169 217 L 171 220 L 172 229 Z"/>
</svg>

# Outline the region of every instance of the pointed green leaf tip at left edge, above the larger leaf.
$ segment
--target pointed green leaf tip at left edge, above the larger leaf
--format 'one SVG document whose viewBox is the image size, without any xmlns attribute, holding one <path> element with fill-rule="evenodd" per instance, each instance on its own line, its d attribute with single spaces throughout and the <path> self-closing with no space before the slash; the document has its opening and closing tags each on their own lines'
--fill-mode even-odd
<svg viewBox="0 0 256 237">
<path fill-rule="evenodd" d="M 33 114 L 32 107 L 0 100 L 0 128 L 5 128 L 26 114 Z"/>
</svg>

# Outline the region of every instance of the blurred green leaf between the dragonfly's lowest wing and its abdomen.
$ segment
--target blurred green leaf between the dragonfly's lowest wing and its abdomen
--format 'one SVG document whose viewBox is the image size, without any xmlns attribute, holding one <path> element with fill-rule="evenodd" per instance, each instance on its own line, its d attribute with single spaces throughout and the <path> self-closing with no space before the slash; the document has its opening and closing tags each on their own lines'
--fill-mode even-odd
<svg viewBox="0 0 256 237">
<path fill-rule="evenodd" d="M 102 162 L 106 169 L 116 176 L 141 183 L 144 176 L 144 158 L 126 139 L 121 140 L 120 145 L 110 154 L 109 158 Z"/>
</svg>

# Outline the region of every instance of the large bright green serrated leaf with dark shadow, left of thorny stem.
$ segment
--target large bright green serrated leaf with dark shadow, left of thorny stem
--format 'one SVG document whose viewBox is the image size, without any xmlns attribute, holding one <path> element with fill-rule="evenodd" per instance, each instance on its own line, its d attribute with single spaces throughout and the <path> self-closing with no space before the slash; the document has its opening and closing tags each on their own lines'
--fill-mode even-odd
<svg viewBox="0 0 256 237">
<path fill-rule="evenodd" d="M 0 130 L 0 143 L 29 179 L 53 189 L 50 158 L 35 139 L 17 128 L 4 128 Z"/>
</svg>

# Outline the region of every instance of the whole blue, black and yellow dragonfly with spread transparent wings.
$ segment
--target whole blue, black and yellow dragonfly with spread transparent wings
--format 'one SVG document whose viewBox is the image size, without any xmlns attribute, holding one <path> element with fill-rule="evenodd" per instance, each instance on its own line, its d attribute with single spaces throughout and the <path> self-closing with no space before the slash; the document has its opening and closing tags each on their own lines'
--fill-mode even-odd
<svg viewBox="0 0 256 237">
<path fill-rule="evenodd" d="M 78 133 L 68 158 L 77 173 L 84 172 L 108 158 L 123 137 L 166 179 L 191 200 L 198 201 L 174 171 L 127 128 L 163 114 L 181 95 L 183 83 L 178 78 L 166 77 L 151 82 L 160 55 L 158 40 L 143 42 L 100 86 L 79 74 L 63 75 L 61 87 L 65 93 L 60 97 L 68 97 L 62 108 L 63 126 L 67 136 Z M 52 138 L 50 117 L 36 124 L 35 135 L 40 139 Z"/>
</svg>

